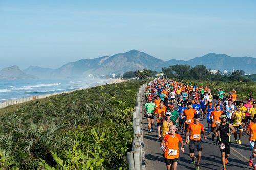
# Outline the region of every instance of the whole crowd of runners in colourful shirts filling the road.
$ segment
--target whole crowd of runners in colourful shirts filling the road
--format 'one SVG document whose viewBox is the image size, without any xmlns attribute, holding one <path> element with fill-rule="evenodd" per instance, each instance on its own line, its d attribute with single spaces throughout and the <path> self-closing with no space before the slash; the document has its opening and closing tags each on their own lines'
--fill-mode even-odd
<svg viewBox="0 0 256 170">
<path fill-rule="evenodd" d="M 214 103 L 214 96 L 207 86 L 184 85 L 166 79 L 158 79 L 147 85 L 144 117 L 149 132 L 153 131 L 153 126 L 157 126 L 168 170 L 177 169 L 179 146 L 185 152 L 184 144 L 189 144 L 191 164 L 199 170 L 201 137 L 207 139 L 206 133 L 212 135 L 212 141 L 216 138 L 215 144 L 220 148 L 224 170 L 230 154 L 231 136 L 234 136 L 237 144 L 241 144 L 242 136 L 249 135 L 252 151 L 249 165 L 253 166 L 253 158 L 256 157 L 256 101 L 250 93 L 246 103 L 237 103 L 237 92 L 234 89 L 226 96 L 221 88 L 217 93 L 218 99 Z M 208 123 L 206 130 L 200 123 L 204 119 Z M 181 134 L 177 134 L 177 131 Z M 256 169 L 256 163 L 253 168 Z"/>
</svg>

